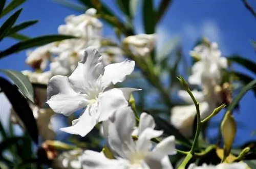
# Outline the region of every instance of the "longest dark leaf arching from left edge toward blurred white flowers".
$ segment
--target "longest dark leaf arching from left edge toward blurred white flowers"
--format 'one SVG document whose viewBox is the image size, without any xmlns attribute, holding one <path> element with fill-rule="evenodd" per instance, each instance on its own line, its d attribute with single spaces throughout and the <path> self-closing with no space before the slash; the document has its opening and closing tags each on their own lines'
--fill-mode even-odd
<svg viewBox="0 0 256 169">
<path fill-rule="evenodd" d="M 0 52 L 0 58 L 6 57 L 9 54 L 12 54 L 24 49 L 28 49 L 31 47 L 45 45 L 51 42 L 61 41 L 61 40 L 71 39 L 71 38 L 75 38 L 75 37 L 67 36 L 67 35 L 46 35 L 46 36 L 40 36 L 40 37 L 28 39 L 22 42 L 18 42 L 13 46 L 9 47 L 8 49 Z"/>
</svg>

